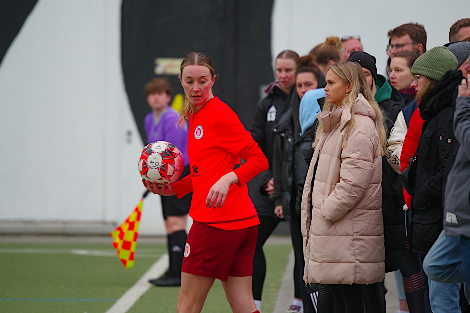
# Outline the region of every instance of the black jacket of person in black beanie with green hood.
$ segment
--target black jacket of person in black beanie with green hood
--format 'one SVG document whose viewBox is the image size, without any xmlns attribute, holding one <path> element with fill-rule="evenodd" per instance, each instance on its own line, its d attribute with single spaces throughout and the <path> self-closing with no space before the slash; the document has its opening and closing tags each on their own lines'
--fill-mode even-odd
<svg viewBox="0 0 470 313">
<path fill-rule="evenodd" d="M 390 99 L 379 103 L 384 112 L 387 137 L 404 107 L 401 93 L 392 86 Z M 403 187 L 397 172 L 382 157 L 382 215 L 384 218 L 385 271 L 396 271 L 405 256 L 405 214 L 403 213 Z"/>
</svg>

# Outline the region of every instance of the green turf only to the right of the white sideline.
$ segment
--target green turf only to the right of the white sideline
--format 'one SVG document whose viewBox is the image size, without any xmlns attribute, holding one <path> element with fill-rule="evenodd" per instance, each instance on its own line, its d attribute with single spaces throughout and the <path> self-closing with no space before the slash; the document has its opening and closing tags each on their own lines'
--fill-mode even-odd
<svg viewBox="0 0 470 313">
<path fill-rule="evenodd" d="M 263 288 L 261 311 L 273 312 L 281 287 L 282 276 L 289 259 L 290 245 L 265 245 L 266 279 Z M 151 287 L 128 311 L 129 313 L 176 312 L 179 287 Z M 287 308 L 286 308 L 287 309 Z M 225 298 L 221 282 L 216 279 L 207 295 L 202 313 L 232 312 Z"/>
</svg>

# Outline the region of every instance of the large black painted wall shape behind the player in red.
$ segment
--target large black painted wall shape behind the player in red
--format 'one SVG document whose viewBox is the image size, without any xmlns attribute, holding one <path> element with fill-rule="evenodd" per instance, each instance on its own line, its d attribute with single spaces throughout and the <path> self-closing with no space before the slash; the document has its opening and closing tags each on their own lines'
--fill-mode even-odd
<svg viewBox="0 0 470 313">
<path fill-rule="evenodd" d="M 209 55 L 217 75 L 214 92 L 250 128 L 259 88 L 273 80 L 271 11 L 273 0 L 123 0 L 122 66 L 127 95 L 142 138 L 150 108 L 143 92 L 157 57 Z M 182 93 L 177 76 L 167 76 Z"/>
</svg>

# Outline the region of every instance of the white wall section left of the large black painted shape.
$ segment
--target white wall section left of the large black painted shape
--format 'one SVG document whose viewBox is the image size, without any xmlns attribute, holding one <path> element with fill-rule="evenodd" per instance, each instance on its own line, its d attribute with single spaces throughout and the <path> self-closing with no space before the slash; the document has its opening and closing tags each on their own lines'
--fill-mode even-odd
<svg viewBox="0 0 470 313">
<path fill-rule="evenodd" d="M 143 147 L 120 63 L 119 0 L 39 0 L 0 66 L 0 220 L 125 220 Z M 127 132 L 131 131 L 130 142 Z M 142 234 L 164 234 L 158 196 Z"/>
</svg>

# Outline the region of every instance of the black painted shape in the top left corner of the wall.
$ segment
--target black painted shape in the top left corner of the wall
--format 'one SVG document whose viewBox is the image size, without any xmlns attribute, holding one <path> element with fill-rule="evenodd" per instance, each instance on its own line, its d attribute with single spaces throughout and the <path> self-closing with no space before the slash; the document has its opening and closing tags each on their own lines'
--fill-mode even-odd
<svg viewBox="0 0 470 313">
<path fill-rule="evenodd" d="M 37 1 L 0 1 L 0 63 Z"/>
</svg>

